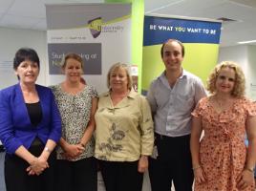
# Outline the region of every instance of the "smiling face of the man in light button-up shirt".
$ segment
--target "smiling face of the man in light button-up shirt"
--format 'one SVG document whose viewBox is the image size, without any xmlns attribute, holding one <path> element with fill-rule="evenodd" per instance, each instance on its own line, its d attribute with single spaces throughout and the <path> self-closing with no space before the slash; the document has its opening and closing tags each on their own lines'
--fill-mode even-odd
<svg viewBox="0 0 256 191">
<path fill-rule="evenodd" d="M 181 71 L 183 60 L 181 45 L 176 41 L 167 42 L 162 49 L 162 61 L 170 72 Z"/>
</svg>

